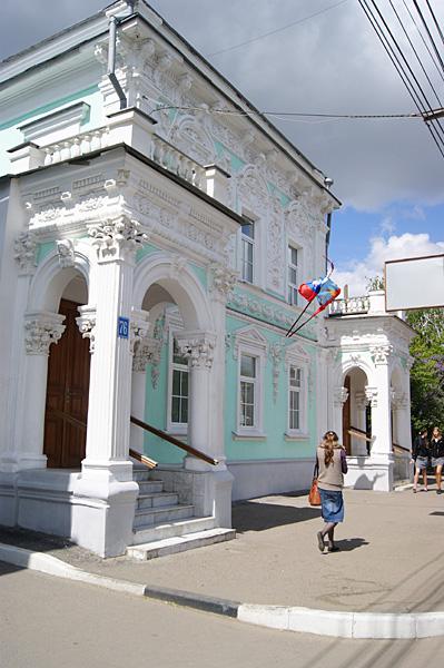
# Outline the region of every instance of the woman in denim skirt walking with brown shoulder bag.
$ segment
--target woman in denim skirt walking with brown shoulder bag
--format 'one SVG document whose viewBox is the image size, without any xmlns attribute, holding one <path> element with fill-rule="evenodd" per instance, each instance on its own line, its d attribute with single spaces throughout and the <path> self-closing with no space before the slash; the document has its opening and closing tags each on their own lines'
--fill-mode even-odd
<svg viewBox="0 0 444 668">
<path fill-rule="evenodd" d="M 328 552 L 337 552 L 334 533 L 338 522 L 344 520 L 344 473 L 347 472 L 345 450 L 338 443 L 337 434 L 327 431 L 323 442 L 317 449 L 318 477 L 317 487 L 320 494 L 320 504 L 324 529 L 317 532 L 317 544 L 320 552 L 325 549 L 325 537 L 328 537 Z"/>
</svg>

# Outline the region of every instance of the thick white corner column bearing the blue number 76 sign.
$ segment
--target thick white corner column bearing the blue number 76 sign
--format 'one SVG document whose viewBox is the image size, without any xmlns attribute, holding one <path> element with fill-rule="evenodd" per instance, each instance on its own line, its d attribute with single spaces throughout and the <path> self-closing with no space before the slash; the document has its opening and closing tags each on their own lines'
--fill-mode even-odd
<svg viewBox="0 0 444 668">
<path fill-rule="evenodd" d="M 93 225 L 89 234 L 97 248 L 97 266 L 91 274 L 97 308 L 86 459 L 73 489 L 72 538 L 111 557 L 124 553 L 131 541 L 138 494 L 128 451 L 132 275 L 144 235 L 139 224 L 126 216 Z M 126 318 L 121 327 L 119 318 Z"/>
</svg>

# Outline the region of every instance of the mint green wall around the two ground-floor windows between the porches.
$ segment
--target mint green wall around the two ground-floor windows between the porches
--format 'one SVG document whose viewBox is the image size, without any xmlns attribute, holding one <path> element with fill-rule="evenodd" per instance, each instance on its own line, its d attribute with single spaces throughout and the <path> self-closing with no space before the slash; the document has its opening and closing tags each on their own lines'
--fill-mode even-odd
<svg viewBox="0 0 444 668">
<path fill-rule="evenodd" d="M 245 321 L 227 316 L 227 333 L 235 334 L 237 330 L 246 326 Z M 267 338 L 269 345 L 283 344 L 283 336 L 270 332 L 260 324 L 251 325 Z M 312 357 L 313 387 L 316 386 L 315 365 L 313 363 L 313 346 L 305 346 Z M 273 396 L 273 363 L 268 357 L 265 369 L 263 386 L 264 401 L 264 433 L 265 441 L 234 440 L 233 432 L 237 422 L 238 401 L 238 361 L 233 357 L 233 345 L 226 358 L 226 392 L 225 392 L 225 452 L 229 461 L 262 460 L 262 459 L 294 459 L 313 455 L 315 439 L 313 435 L 305 441 L 286 441 L 288 419 L 287 374 L 285 372 L 284 355 L 279 364 L 279 379 L 276 403 Z M 316 434 L 316 411 L 314 393 L 308 393 L 308 434 Z"/>
</svg>

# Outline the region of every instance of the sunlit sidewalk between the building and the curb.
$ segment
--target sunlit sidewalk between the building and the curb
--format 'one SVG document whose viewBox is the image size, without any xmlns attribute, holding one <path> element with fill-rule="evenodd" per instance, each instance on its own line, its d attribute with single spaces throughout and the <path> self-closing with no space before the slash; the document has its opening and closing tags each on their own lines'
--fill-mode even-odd
<svg viewBox="0 0 444 668">
<path fill-rule="evenodd" d="M 0 542 L 107 578 L 272 606 L 355 612 L 444 611 L 444 494 L 345 491 L 341 552 L 322 554 L 306 495 L 234 505 L 237 539 L 145 562 L 101 560 L 62 541 L 0 530 Z"/>
</svg>

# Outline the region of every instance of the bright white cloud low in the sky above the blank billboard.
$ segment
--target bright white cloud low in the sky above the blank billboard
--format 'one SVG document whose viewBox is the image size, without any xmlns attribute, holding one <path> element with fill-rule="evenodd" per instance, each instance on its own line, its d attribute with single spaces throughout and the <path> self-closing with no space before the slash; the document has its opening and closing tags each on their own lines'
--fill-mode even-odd
<svg viewBox="0 0 444 668">
<path fill-rule="evenodd" d="M 418 257 L 444 253 L 444 242 L 431 242 L 428 234 L 403 234 L 401 236 L 374 237 L 371 239 L 371 249 L 363 262 L 352 263 L 348 271 L 335 271 L 333 279 L 342 288 L 348 285 L 349 296 L 359 296 L 366 293 L 368 278 L 382 276 L 384 263 L 388 259 L 404 257 Z"/>
</svg>

